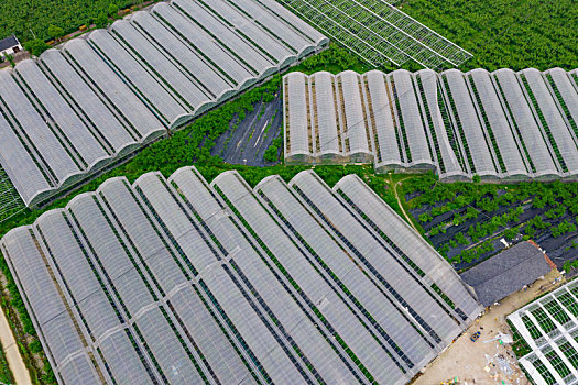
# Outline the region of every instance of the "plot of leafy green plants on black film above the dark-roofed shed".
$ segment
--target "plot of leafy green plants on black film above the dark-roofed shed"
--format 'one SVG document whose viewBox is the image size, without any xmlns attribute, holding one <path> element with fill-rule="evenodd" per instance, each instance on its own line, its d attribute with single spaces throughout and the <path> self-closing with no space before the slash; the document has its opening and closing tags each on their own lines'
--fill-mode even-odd
<svg viewBox="0 0 578 385">
<path fill-rule="evenodd" d="M 537 242 L 563 267 L 578 255 L 578 184 L 403 184 L 408 211 L 455 268 L 469 267 L 505 248 Z"/>
</svg>

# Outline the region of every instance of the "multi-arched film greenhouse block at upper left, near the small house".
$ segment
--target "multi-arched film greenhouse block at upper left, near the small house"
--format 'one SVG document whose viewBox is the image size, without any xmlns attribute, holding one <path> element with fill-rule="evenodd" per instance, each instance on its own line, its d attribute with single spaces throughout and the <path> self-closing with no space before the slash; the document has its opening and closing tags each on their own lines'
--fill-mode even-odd
<svg viewBox="0 0 578 385">
<path fill-rule="evenodd" d="M 39 206 L 327 43 L 274 0 L 135 12 L 0 74 L 1 167 Z"/>
</svg>

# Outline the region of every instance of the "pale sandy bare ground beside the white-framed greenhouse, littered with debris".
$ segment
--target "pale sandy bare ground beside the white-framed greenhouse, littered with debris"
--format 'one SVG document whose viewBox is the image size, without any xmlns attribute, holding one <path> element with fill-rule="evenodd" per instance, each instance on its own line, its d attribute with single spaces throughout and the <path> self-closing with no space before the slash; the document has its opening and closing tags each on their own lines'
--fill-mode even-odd
<svg viewBox="0 0 578 385">
<path fill-rule="evenodd" d="M 544 279 L 535 282 L 527 290 L 521 290 L 502 299 L 500 305 L 492 306 L 489 311 L 476 320 L 468 330 L 461 334 L 445 352 L 435 359 L 426 369 L 424 374 L 417 377 L 413 385 L 438 385 L 447 382 L 454 384 L 515 384 L 526 385 L 530 382 L 517 366 L 515 355 L 510 345 L 501 345 L 498 341 L 484 341 L 493 339 L 499 332 L 511 334 L 510 328 L 505 322 L 505 317 L 514 310 L 526 305 L 532 299 L 552 290 L 554 287 L 563 285 L 565 279 L 553 282 L 559 277 L 557 271 L 550 272 Z M 470 336 L 480 331 L 481 336 L 477 342 L 470 341 Z M 505 375 L 498 365 L 488 363 L 486 354 L 491 358 L 502 354 L 513 370 L 513 374 Z M 489 371 L 486 370 L 489 369 Z M 503 383 L 502 383 L 503 382 Z"/>
</svg>

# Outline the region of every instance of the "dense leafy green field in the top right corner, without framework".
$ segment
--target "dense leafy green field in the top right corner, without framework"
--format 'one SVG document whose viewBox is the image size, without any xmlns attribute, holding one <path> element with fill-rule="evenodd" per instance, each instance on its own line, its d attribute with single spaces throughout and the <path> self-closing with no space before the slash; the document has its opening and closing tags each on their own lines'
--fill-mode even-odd
<svg viewBox="0 0 578 385">
<path fill-rule="evenodd" d="M 405 0 L 401 9 L 473 54 L 464 70 L 578 67 L 574 0 Z"/>
</svg>

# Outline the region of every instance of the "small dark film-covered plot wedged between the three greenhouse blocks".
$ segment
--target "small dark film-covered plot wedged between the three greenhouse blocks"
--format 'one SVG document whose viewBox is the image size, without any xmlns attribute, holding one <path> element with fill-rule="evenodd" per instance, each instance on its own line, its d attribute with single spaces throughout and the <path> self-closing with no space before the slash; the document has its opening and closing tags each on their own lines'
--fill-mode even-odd
<svg viewBox="0 0 578 385">
<path fill-rule="evenodd" d="M 277 92 L 273 100 L 261 100 L 252 111 L 237 114 L 215 142 L 211 155 L 229 164 L 260 167 L 276 164 L 277 161 L 266 161 L 264 154 L 281 135 L 282 121 L 282 100 Z"/>
</svg>

